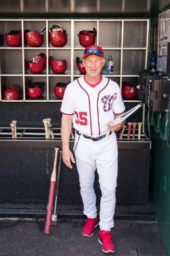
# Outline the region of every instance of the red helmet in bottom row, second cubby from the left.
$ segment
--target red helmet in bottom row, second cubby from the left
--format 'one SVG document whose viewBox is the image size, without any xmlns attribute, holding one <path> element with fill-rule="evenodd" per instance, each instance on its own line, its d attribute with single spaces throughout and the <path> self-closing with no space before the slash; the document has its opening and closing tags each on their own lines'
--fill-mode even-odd
<svg viewBox="0 0 170 256">
<path fill-rule="evenodd" d="M 38 99 L 42 96 L 44 91 L 44 82 L 27 82 L 27 92 L 32 99 Z"/>
</svg>

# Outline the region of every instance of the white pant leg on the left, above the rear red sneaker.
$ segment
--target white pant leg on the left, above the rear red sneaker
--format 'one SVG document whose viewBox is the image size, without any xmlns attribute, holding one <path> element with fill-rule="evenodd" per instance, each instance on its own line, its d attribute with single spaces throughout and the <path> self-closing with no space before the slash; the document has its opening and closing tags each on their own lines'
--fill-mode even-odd
<svg viewBox="0 0 170 256">
<path fill-rule="evenodd" d="M 77 138 L 75 138 L 76 141 Z M 80 179 L 81 197 L 84 204 L 83 212 L 88 218 L 95 218 L 97 216 L 96 194 L 94 191 L 96 164 L 91 141 L 84 139 L 82 136 L 80 137 L 75 150 L 75 159 Z"/>
</svg>

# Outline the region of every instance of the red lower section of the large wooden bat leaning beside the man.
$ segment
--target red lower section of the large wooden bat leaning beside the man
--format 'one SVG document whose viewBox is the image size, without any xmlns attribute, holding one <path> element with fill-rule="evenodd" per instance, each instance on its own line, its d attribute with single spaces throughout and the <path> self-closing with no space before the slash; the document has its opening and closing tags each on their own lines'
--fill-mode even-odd
<svg viewBox="0 0 170 256">
<path fill-rule="evenodd" d="M 51 181 L 49 196 L 48 196 L 46 222 L 45 222 L 45 228 L 44 228 L 44 234 L 48 234 L 48 235 L 50 234 L 50 228 L 51 228 L 51 216 L 53 214 L 55 187 L 56 187 L 56 181 Z"/>
</svg>

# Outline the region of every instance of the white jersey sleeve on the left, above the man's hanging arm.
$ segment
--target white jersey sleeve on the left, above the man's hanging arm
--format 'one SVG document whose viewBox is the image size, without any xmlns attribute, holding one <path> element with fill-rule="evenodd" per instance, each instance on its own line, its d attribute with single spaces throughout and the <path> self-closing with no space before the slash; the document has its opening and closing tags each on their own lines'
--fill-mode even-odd
<svg viewBox="0 0 170 256">
<path fill-rule="evenodd" d="M 69 86 L 66 88 L 66 90 L 64 92 L 60 111 L 61 111 L 61 113 L 66 114 L 66 115 L 74 114 L 72 90 L 71 90 L 71 87 L 69 87 Z"/>
</svg>

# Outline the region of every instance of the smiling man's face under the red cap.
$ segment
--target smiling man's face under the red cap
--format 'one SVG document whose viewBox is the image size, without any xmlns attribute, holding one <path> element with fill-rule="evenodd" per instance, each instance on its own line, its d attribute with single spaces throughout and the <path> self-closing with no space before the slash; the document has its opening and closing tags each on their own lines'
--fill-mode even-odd
<svg viewBox="0 0 170 256">
<path fill-rule="evenodd" d="M 86 75 L 88 75 L 91 78 L 95 78 L 100 75 L 105 60 L 100 56 L 90 55 L 83 59 L 83 62 L 86 69 Z"/>
</svg>

